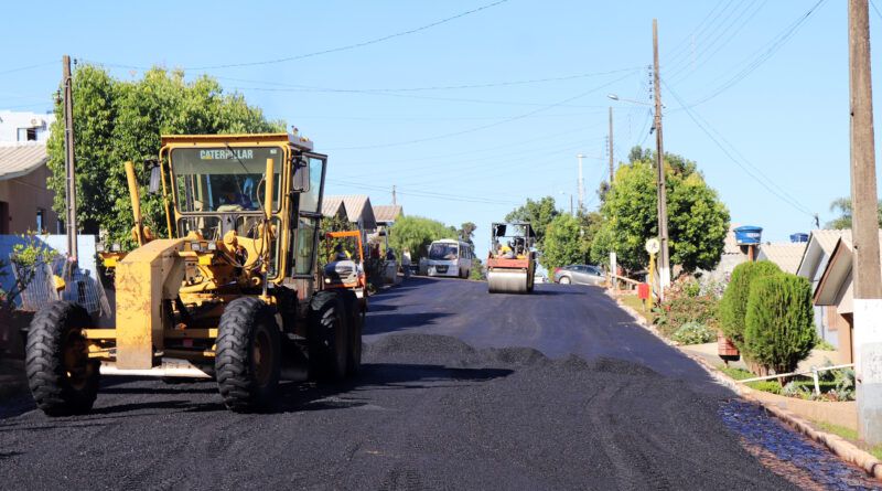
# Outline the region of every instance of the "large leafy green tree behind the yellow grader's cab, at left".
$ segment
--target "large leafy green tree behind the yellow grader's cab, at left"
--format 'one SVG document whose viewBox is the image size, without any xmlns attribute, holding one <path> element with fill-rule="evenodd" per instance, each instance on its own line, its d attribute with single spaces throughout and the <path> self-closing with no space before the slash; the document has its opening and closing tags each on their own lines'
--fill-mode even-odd
<svg viewBox="0 0 882 491">
<path fill-rule="evenodd" d="M 182 70 L 153 68 L 137 81 L 111 77 L 98 65 L 79 64 L 74 72 L 74 132 L 76 135 L 77 222 L 83 233 L 106 231 L 114 242 L 133 246 L 133 216 L 123 162 L 136 162 L 141 185 L 147 184 L 146 159 L 154 159 L 161 135 L 250 134 L 284 131 L 283 121 L 269 121 L 238 93 L 225 94 L 214 78 L 203 75 L 184 82 Z M 65 213 L 63 108 L 55 105 L 46 150 L 52 175 L 46 185 L 55 193 L 53 209 Z M 159 236 L 168 236 L 162 199 L 141 194 L 144 221 Z"/>
</svg>

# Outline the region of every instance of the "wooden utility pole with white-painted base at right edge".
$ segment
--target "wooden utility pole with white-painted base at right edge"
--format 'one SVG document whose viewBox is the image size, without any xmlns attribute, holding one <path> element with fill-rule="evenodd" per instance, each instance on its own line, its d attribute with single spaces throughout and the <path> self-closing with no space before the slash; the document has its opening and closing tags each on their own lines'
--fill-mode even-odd
<svg viewBox="0 0 882 491">
<path fill-rule="evenodd" d="M 854 243 L 854 374 L 858 438 L 882 444 L 882 275 L 876 222 L 868 0 L 848 2 L 851 237 Z"/>
</svg>

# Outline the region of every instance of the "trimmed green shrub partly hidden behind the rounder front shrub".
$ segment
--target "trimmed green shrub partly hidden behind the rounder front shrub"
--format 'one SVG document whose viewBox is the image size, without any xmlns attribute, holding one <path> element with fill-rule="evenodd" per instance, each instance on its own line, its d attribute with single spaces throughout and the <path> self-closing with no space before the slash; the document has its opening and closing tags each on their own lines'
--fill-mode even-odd
<svg viewBox="0 0 882 491">
<path fill-rule="evenodd" d="M 745 316 L 751 285 L 756 278 L 779 274 L 781 268 L 770 260 L 742 263 L 732 270 L 729 286 L 720 301 L 720 329 L 744 352 Z"/>
</svg>

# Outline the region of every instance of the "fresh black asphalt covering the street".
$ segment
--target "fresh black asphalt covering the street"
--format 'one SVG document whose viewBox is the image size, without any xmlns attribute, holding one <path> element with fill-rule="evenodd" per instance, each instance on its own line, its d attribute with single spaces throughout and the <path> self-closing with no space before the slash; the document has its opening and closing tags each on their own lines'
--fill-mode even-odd
<svg viewBox="0 0 882 491">
<path fill-rule="evenodd" d="M 0 404 L 2 489 L 794 489 L 732 394 L 593 287 L 415 278 L 370 300 L 362 377 L 268 414 L 213 382 L 106 377 L 92 414 Z"/>
</svg>

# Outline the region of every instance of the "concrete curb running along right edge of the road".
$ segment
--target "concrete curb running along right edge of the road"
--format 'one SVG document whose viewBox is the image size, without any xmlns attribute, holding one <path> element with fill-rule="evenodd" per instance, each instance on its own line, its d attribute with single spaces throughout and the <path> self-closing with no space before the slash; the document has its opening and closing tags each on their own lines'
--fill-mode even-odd
<svg viewBox="0 0 882 491">
<path fill-rule="evenodd" d="M 636 321 L 637 324 L 642 325 L 644 329 L 655 334 L 666 344 L 671 346 L 677 346 L 676 343 L 660 335 L 658 333 L 658 330 L 655 329 L 655 327 L 653 327 L 652 324 L 647 324 L 643 316 L 641 316 L 631 307 L 624 305 L 619 298 L 610 293 L 609 290 L 606 290 L 606 295 L 612 297 L 619 305 L 619 307 L 625 312 L 627 312 Z M 868 453 L 864 450 L 861 450 L 860 448 L 856 447 L 852 442 L 846 440 L 839 435 L 829 434 L 827 431 L 818 429 L 807 420 L 790 413 L 787 409 L 784 409 L 773 404 L 765 404 L 763 401 L 757 399 L 752 395 L 753 393 L 752 388 L 745 387 L 742 384 L 736 383 L 733 378 L 731 378 L 729 375 L 718 370 L 716 366 L 708 363 L 708 361 L 702 359 L 701 356 L 684 353 L 682 350 L 678 351 L 680 351 L 680 353 L 682 353 L 684 355 L 695 360 L 699 364 L 699 366 L 704 369 L 704 371 L 707 371 L 708 374 L 713 377 L 713 380 L 731 388 L 735 394 L 739 394 L 740 396 L 762 406 L 766 412 L 772 413 L 775 417 L 783 420 L 795 430 L 817 441 L 818 444 L 821 444 L 827 448 L 829 448 L 830 451 L 836 453 L 836 456 L 839 457 L 840 459 L 845 460 L 846 462 L 853 463 L 860 467 L 867 472 L 868 476 L 872 476 L 879 480 L 882 480 L 882 461 L 880 461 L 872 455 Z"/>
</svg>

